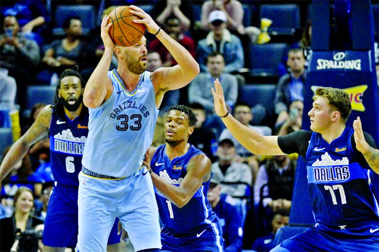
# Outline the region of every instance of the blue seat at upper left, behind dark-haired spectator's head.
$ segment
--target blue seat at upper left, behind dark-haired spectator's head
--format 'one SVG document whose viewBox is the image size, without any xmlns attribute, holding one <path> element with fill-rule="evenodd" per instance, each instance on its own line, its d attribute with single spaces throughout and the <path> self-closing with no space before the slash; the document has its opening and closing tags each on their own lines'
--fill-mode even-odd
<svg viewBox="0 0 379 252">
<path fill-rule="evenodd" d="M 63 36 L 63 24 L 68 17 L 78 17 L 82 22 L 83 35 L 96 26 L 96 11 L 92 5 L 59 5 L 54 15 L 53 35 Z"/>
</svg>

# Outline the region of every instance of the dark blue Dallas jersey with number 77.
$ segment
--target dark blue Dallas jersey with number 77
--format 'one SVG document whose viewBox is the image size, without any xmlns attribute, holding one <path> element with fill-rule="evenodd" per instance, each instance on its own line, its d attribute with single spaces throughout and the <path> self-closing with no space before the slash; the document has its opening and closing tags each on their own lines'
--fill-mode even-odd
<svg viewBox="0 0 379 252">
<path fill-rule="evenodd" d="M 378 204 L 371 182 L 372 170 L 354 153 L 346 127 L 342 135 L 327 143 L 313 132 L 306 154 L 309 196 L 317 223 L 326 226 L 378 222 Z"/>
</svg>

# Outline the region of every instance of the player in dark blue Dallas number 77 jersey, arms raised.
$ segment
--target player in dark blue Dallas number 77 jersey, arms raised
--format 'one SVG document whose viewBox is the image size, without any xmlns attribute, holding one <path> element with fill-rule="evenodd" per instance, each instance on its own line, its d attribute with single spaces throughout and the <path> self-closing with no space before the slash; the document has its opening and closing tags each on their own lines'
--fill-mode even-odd
<svg viewBox="0 0 379 252">
<path fill-rule="evenodd" d="M 348 93 L 321 87 L 308 112 L 309 131 L 262 136 L 227 113 L 220 82 L 214 82 L 215 111 L 233 136 L 256 155 L 298 153 L 307 166 L 315 226 L 283 241 L 272 251 L 376 251 L 379 248 L 378 203 L 372 172 L 379 173 L 379 150 L 351 113 Z M 320 242 L 322 241 L 322 242 Z"/>
</svg>

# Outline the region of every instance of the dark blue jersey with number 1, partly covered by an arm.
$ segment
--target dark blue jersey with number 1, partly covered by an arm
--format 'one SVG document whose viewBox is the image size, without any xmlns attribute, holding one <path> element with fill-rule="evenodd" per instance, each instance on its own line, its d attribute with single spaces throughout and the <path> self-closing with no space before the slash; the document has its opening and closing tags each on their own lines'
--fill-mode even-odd
<svg viewBox="0 0 379 252">
<path fill-rule="evenodd" d="M 166 144 L 157 148 L 151 161 L 151 168 L 166 182 L 175 186 L 179 186 L 187 174 L 188 161 L 195 156 L 205 155 L 200 149 L 191 145 L 186 154 L 170 161 L 165 150 Z M 207 199 L 208 188 L 209 181 L 204 182 L 187 205 L 182 208 L 176 207 L 155 188 L 159 216 L 163 226 L 181 234 L 195 233 L 209 227 L 217 217 Z"/>
</svg>

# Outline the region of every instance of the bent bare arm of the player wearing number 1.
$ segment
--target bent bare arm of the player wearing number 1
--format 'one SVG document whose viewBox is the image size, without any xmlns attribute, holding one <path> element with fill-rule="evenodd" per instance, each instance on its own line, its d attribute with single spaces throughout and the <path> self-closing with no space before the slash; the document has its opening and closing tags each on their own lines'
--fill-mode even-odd
<svg viewBox="0 0 379 252">
<path fill-rule="evenodd" d="M 148 152 L 149 153 L 149 152 Z M 150 157 L 146 154 L 143 164 L 150 171 Z M 184 207 L 199 190 L 204 181 L 210 179 L 211 161 L 205 155 L 193 157 L 187 164 L 187 174 L 179 186 L 166 182 L 154 172 L 151 173 L 154 186 L 176 207 Z"/>
</svg>

